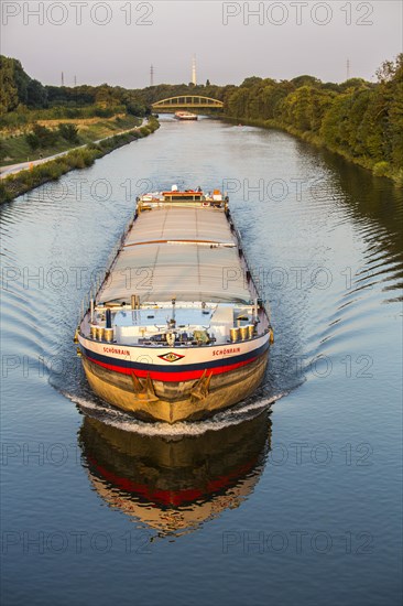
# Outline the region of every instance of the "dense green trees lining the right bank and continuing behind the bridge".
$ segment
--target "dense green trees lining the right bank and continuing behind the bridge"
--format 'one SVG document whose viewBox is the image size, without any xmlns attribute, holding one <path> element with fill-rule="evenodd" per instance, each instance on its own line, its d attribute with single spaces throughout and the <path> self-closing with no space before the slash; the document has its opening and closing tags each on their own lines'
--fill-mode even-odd
<svg viewBox="0 0 403 606">
<path fill-rule="evenodd" d="M 403 185 L 403 54 L 375 75 L 375 83 L 341 84 L 249 77 L 240 86 L 160 85 L 138 94 L 144 104 L 190 93 L 217 98 L 226 118 L 284 129 Z"/>
</svg>

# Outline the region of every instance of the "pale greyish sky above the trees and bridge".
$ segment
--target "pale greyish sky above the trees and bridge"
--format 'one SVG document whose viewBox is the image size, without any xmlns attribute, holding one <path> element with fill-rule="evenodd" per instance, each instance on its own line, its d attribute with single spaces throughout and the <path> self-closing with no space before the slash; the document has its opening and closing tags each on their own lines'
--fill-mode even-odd
<svg viewBox="0 0 403 606">
<path fill-rule="evenodd" d="M 252 14 L 252 12 L 257 14 Z M 41 23 L 40 23 L 41 21 Z M 248 76 L 325 82 L 372 79 L 402 52 L 401 0 L 2 0 L 1 53 L 43 84 L 128 88 L 197 79 L 240 84 Z"/>
</svg>

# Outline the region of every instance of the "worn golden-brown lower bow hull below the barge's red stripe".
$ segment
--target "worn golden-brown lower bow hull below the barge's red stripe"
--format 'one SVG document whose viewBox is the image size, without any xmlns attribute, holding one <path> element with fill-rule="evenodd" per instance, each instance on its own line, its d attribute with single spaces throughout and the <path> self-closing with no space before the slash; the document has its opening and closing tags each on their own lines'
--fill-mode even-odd
<svg viewBox="0 0 403 606">
<path fill-rule="evenodd" d="M 105 368 L 83 354 L 91 389 L 104 400 L 144 420 L 176 423 L 207 418 L 251 396 L 262 382 L 268 351 L 246 366 L 199 379 L 163 381 L 150 375 L 122 374 Z"/>
</svg>

